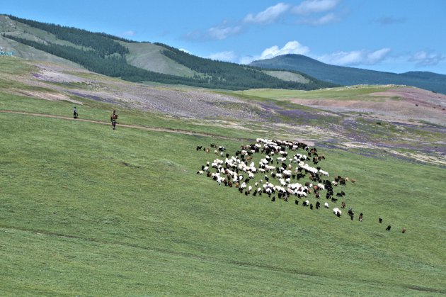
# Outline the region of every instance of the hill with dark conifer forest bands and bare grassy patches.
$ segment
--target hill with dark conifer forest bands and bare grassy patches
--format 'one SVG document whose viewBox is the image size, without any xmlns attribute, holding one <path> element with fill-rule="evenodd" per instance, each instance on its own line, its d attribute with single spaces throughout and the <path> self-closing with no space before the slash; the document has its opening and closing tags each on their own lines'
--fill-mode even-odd
<svg viewBox="0 0 446 297">
<path fill-rule="evenodd" d="M 1 42 L 18 57 L 76 63 L 93 72 L 130 82 L 184 84 L 211 89 L 320 89 L 334 84 L 288 71 L 264 72 L 256 67 L 189 55 L 161 43 L 136 43 L 105 33 L 0 16 Z M 299 79 L 297 79 L 299 77 Z"/>
</svg>

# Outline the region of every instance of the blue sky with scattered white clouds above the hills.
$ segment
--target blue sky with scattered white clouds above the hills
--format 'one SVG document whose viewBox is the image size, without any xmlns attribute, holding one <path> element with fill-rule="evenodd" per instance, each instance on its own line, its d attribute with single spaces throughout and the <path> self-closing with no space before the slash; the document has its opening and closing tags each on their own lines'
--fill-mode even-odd
<svg viewBox="0 0 446 297">
<path fill-rule="evenodd" d="M 446 74 L 446 0 L 3 1 L 0 13 L 246 64 L 287 53 Z"/>
</svg>

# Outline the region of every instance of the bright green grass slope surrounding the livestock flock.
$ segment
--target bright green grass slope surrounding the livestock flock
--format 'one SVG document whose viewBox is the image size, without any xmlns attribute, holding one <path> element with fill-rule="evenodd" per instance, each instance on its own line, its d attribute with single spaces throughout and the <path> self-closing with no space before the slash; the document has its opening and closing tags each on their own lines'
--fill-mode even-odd
<svg viewBox="0 0 446 297">
<path fill-rule="evenodd" d="M 319 148 L 331 176 L 358 180 L 335 189 L 351 221 L 196 174 L 216 157 L 197 145 L 246 142 L 2 112 L 38 108 L 72 103 L 0 92 L 1 296 L 446 294 L 444 168 Z"/>
</svg>

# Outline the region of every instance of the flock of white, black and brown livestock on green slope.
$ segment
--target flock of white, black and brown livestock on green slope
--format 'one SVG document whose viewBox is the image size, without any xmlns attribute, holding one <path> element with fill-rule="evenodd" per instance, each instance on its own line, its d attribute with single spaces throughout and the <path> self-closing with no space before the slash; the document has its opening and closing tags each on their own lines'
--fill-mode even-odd
<svg viewBox="0 0 446 297">
<path fill-rule="evenodd" d="M 355 183 L 355 179 L 342 176 L 328 179 L 328 172 L 318 165 L 325 159 L 324 155 L 319 155 L 315 147 L 310 148 L 304 142 L 258 138 L 254 144 L 242 145 L 234 156 L 229 155 L 225 147 L 214 144 L 198 146 L 197 150 L 207 153 L 213 150 L 217 155 L 212 162 L 203 164 L 197 174 L 205 174 L 220 186 L 234 187 L 246 196 L 268 196 L 271 201 L 294 198 L 295 204 L 300 203 L 311 210 L 321 208 L 321 196 L 326 198 L 324 208 L 330 208 L 329 203 L 336 204 L 345 196 L 341 186 L 346 182 Z M 257 161 L 253 159 L 256 153 L 262 155 L 261 159 L 256 158 Z M 256 178 L 256 174 L 261 178 Z M 335 194 L 336 188 L 339 190 Z M 340 207 L 333 208 L 333 214 L 341 217 L 345 207 L 342 201 Z M 353 220 L 355 213 L 351 207 L 347 214 Z M 362 221 L 362 213 L 358 220 Z M 379 223 L 382 223 L 381 218 Z M 390 230 L 390 225 L 387 230 Z"/>
</svg>

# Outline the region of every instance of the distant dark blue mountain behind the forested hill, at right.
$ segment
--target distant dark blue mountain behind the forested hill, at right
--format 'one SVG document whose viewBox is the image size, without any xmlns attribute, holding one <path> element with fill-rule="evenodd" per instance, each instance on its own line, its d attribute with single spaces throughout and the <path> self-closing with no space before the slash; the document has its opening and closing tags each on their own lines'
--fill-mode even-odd
<svg viewBox="0 0 446 297">
<path fill-rule="evenodd" d="M 402 84 L 446 94 L 446 75 L 433 72 L 401 74 L 328 65 L 304 55 L 281 55 L 251 62 L 251 66 L 302 72 L 333 84 Z"/>
</svg>

